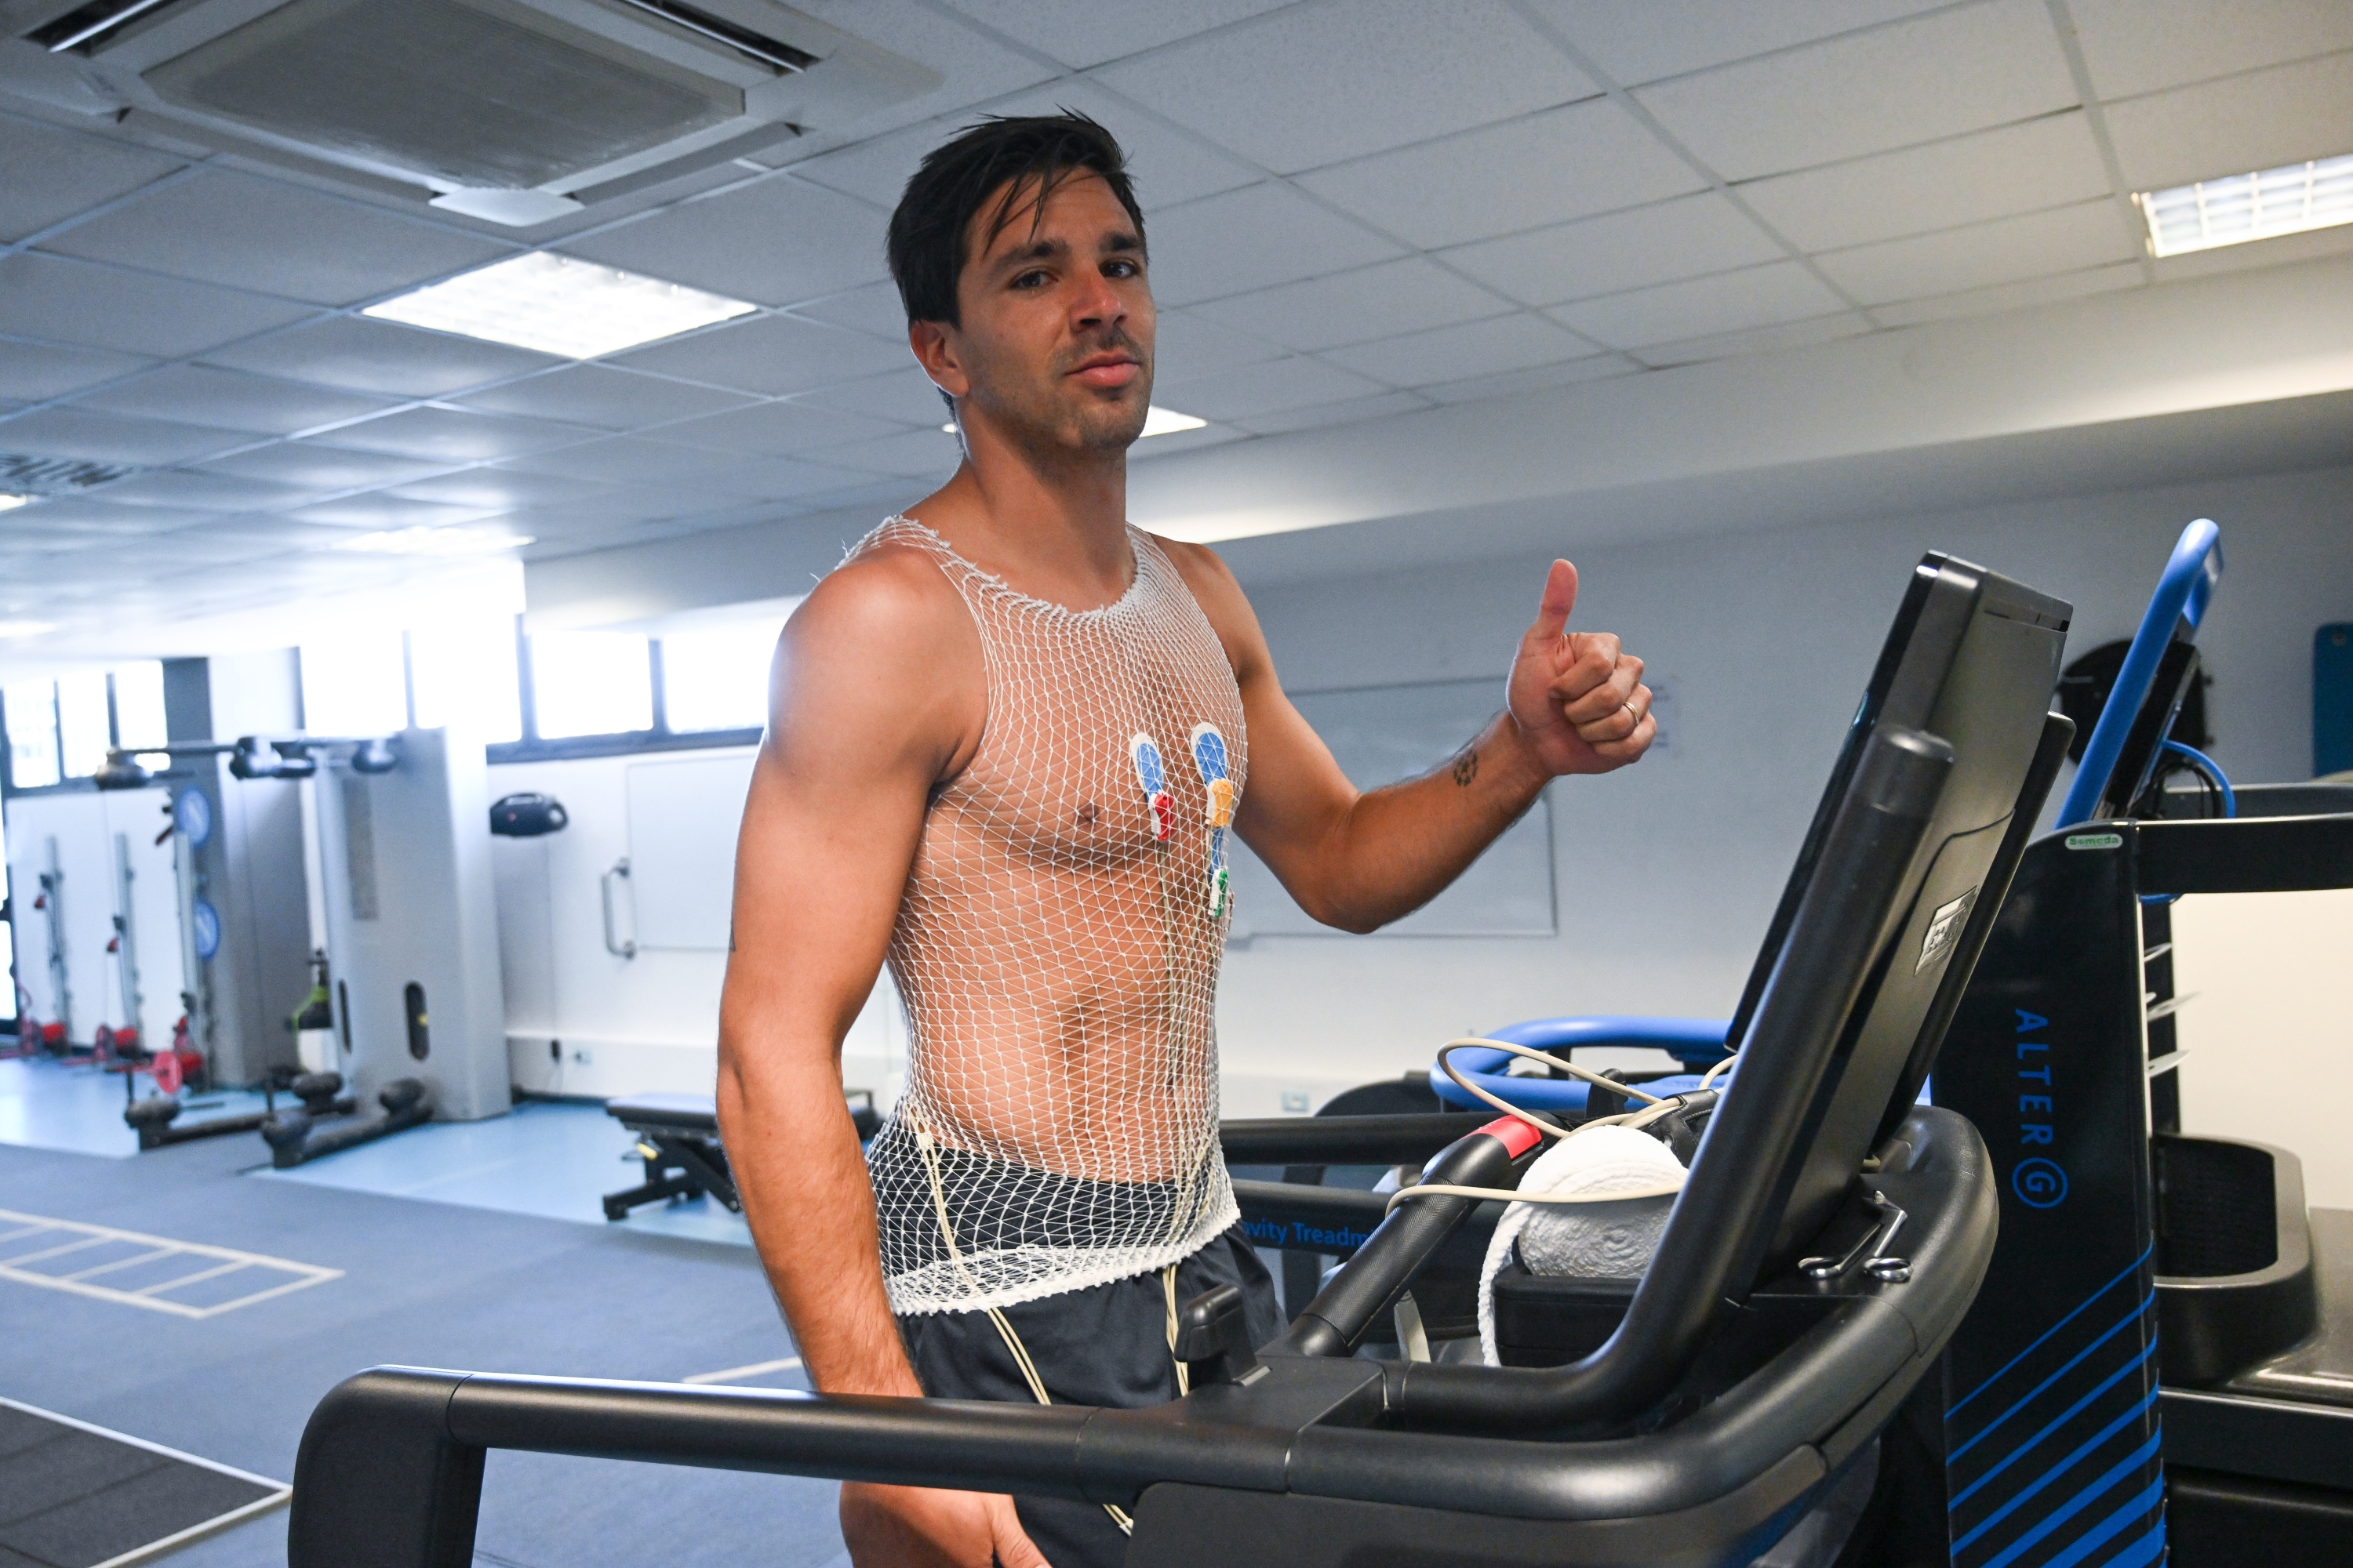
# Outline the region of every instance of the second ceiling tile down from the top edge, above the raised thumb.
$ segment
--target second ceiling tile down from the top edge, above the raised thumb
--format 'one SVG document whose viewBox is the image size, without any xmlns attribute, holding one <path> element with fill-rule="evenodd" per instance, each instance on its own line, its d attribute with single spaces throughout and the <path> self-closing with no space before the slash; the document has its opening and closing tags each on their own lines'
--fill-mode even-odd
<svg viewBox="0 0 2353 1568">
<path fill-rule="evenodd" d="M 1435 249 L 1704 190 L 1621 103 L 1591 99 L 1301 174 L 1334 207 Z"/>
</svg>

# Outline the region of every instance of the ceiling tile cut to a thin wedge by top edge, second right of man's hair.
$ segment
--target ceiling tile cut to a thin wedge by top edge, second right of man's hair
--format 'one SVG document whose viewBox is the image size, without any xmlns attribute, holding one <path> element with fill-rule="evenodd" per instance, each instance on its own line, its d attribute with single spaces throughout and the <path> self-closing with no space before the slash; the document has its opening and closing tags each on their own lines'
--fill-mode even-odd
<svg viewBox="0 0 2353 1568">
<path fill-rule="evenodd" d="M 1621 87 L 1722 66 L 1769 49 L 1788 49 L 1833 33 L 1929 12 L 1939 5 L 1946 0 L 1807 0 L 1805 5 L 1534 0 L 1537 14 L 1560 28 L 1562 38 Z"/>
</svg>

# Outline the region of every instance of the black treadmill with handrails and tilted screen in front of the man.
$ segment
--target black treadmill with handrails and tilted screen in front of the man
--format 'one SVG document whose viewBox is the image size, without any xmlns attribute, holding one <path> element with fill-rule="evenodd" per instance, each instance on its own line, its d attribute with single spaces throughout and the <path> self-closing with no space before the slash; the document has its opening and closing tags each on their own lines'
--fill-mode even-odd
<svg viewBox="0 0 2353 1568">
<path fill-rule="evenodd" d="M 2073 729 L 2045 712 L 2066 618 L 1941 555 L 1913 574 L 1767 933 L 1739 1067 L 1649 1269 L 1631 1293 L 1609 1281 L 1624 1312 L 1591 1354 L 1522 1333 L 1506 1356 L 1522 1366 L 1351 1356 L 1480 1211 L 1400 1197 L 1264 1356 L 1238 1293 L 1188 1302 L 1191 1394 L 1155 1408 L 360 1373 L 304 1432 L 287 1561 L 468 1561 L 489 1448 L 1118 1502 L 1136 1568 L 1758 1559 L 1864 1462 L 1993 1248 L 1984 1143 L 1913 1093 Z M 1522 1117 L 1464 1135 L 1440 1114 L 1238 1124 L 1226 1147 L 1393 1164 L 1428 1147 L 1428 1121 L 1445 1145 L 1424 1185 L 1506 1182 L 1539 1143 Z M 1798 1267 L 1817 1255 L 1833 1267 Z M 1527 1312 L 1591 1326 L 1614 1307 Z"/>
</svg>

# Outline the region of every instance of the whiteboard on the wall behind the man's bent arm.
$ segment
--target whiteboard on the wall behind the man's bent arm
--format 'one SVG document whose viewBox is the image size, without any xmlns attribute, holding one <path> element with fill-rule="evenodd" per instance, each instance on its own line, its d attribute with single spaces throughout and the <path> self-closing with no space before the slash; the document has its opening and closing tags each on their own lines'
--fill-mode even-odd
<svg viewBox="0 0 2353 1568">
<path fill-rule="evenodd" d="M 1504 708 L 1501 679 L 1424 686 L 1360 686 L 1292 693 L 1292 705 L 1360 790 L 1419 778 L 1454 757 Z M 1257 766 L 1257 759 L 1252 759 Z M 1445 893 L 1377 936 L 1553 936 L 1553 802 L 1534 809 L 1487 846 Z M 1341 936 L 1320 926 L 1275 875 L 1233 842 L 1235 936 Z"/>
</svg>

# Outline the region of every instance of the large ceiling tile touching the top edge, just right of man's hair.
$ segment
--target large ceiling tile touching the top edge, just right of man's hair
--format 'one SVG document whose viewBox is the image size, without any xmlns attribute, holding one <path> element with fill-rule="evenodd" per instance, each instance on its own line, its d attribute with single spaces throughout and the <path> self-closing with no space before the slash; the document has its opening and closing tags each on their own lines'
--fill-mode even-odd
<svg viewBox="0 0 2353 1568">
<path fill-rule="evenodd" d="M 1278 174 L 1598 92 L 1501 0 L 1308 0 L 1096 75 Z"/>
</svg>

